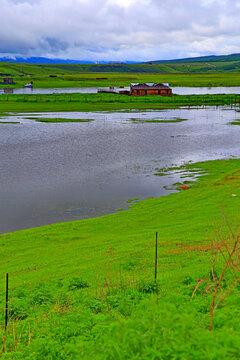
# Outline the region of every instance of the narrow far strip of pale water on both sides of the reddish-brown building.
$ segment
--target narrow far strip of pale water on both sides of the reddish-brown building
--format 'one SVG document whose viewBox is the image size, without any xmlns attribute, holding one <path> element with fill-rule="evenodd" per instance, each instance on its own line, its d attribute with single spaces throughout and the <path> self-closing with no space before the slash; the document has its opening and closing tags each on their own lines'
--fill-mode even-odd
<svg viewBox="0 0 240 360">
<path fill-rule="evenodd" d="M 104 89 L 101 87 L 101 89 Z M 106 88 L 108 89 L 108 88 Z M 125 89 L 130 89 L 125 87 Z M 123 89 L 121 89 L 123 90 Z M 191 95 L 191 94 L 240 94 L 240 87 L 173 87 L 174 94 L 178 95 Z M 21 89 L 0 89 L 0 94 L 60 94 L 60 93 L 97 93 L 97 87 L 81 87 L 81 88 L 21 88 Z"/>
</svg>

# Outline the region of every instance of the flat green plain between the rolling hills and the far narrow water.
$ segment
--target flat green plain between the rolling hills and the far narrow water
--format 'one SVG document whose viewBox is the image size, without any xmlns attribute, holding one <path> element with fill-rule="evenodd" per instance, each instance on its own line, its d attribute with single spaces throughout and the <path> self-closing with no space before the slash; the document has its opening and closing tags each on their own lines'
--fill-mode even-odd
<svg viewBox="0 0 240 360">
<path fill-rule="evenodd" d="M 105 79 L 103 79 L 105 78 Z M 67 88 L 67 87 L 105 87 L 129 86 L 130 83 L 155 82 L 169 83 L 170 86 L 240 86 L 240 74 L 156 74 L 156 73 L 73 73 L 58 75 L 50 78 L 48 75 L 33 75 L 29 77 L 16 77 L 15 85 L 10 87 L 23 87 L 33 81 L 36 88 Z M 3 86 L 2 87 L 6 87 Z"/>
</svg>

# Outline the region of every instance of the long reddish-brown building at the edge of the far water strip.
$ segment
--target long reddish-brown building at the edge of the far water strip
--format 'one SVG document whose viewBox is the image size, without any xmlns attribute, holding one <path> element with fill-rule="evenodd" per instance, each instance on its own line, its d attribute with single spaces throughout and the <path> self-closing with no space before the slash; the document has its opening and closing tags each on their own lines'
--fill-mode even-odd
<svg viewBox="0 0 240 360">
<path fill-rule="evenodd" d="M 168 84 L 131 84 L 130 95 L 133 96 L 146 96 L 146 95 L 161 95 L 172 96 L 172 89 Z"/>
</svg>

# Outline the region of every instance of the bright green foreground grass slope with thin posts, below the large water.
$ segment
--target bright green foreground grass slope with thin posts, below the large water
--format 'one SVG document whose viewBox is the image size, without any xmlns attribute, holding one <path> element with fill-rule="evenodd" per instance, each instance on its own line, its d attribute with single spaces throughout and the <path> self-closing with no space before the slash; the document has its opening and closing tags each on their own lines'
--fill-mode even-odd
<svg viewBox="0 0 240 360">
<path fill-rule="evenodd" d="M 118 214 L 0 236 L 10 308 L 28 316 L 9 327 L 13 344 L 26 323 L 18 353 L 6 358 L 238 359 L 239 288 L 216 311 L 212 333 L 212 291 L 190 299 L 196 279 L 208 278 L 221 211 L 239 222 L 240 161 L 189 167 L 196 166 L 209 175 L 187 191 Z M 159 305 L 151 281 L 156 231 Z M 29 348 L 21 345 L 28 341 Z"/>
</svg>

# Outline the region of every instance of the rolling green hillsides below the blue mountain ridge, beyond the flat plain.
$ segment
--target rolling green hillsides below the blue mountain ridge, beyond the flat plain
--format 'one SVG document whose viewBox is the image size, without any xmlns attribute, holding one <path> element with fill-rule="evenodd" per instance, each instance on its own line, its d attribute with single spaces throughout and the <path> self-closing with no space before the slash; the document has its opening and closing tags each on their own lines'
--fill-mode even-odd
<svg viewBox="0 0 240 360">
<path fill-rule="evenodd" d="M 181 61 L 153 62 L 138 64 L 24 64 L 0 63 L 0 71 L 12 74 L 66 74 L 66 73 L 220 73 L 239 72 L 239 56 L 216 58 L 185 59 Z"/>
</svg>

